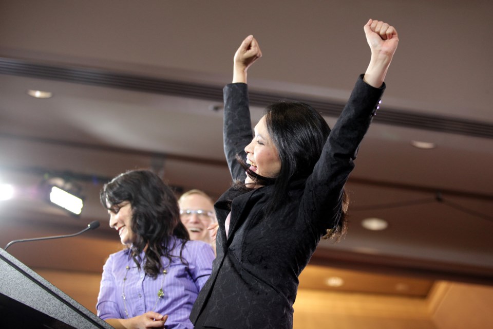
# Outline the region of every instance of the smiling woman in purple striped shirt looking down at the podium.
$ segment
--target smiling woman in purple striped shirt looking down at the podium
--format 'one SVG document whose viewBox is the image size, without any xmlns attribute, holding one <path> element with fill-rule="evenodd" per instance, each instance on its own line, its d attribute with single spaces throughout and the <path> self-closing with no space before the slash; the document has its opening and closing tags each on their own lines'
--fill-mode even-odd
<svg viewBox="0 0 493 329">
<path fill-rule="evenodd" d="M 103 267 L 98 316 L 116 328 L 192 328 L 188 316 L 214 252 L 189 241 L 173 191 L 156 174 L 135 170 L 104 185 L 100 198 L 127 249 Z"/>
</svg>

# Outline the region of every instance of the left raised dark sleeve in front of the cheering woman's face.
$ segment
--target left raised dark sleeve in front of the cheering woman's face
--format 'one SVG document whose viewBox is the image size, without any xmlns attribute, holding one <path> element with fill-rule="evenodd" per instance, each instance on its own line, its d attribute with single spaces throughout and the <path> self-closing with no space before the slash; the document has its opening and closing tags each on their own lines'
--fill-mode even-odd
<svg viewBox="0 0 493 329">
<path fill-rule="evenodd" d="M 245 83 L 231 83 L 224 87 L 224 154 L 233 180 L 245 180 L 247 175 L 236 161 L 236 155 L 246 159 L 245 147 L 252 141 L 252 120 Z"/>
</svg>

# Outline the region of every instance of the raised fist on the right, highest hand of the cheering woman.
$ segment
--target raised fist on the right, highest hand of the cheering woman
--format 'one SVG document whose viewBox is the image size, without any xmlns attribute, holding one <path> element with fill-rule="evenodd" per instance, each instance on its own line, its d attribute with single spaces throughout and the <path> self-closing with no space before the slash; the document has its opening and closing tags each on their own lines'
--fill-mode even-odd
<svg viewBox="0 0 493 329">
<path fill-rule="evenodd" d="M 369 20 L 364 30 L 371 50 L 370 64 L 364 80 L 378 88 L 384 83 L 390 62 L 399 44 L 399 36 L 393 26 L 381 21 Z"/>
</svg>

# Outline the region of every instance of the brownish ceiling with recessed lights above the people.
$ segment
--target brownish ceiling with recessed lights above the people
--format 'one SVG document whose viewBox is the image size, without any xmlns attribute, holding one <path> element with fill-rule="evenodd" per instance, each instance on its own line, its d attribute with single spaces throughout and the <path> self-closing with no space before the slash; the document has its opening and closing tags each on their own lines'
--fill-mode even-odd
<svg viewBox="0 0 493 329">
<path fill-rule="evenodd" d="M 492 11 L 486 0 L 0 1 L 0 183 L 17 191 L 0 201 L 0 246 L 97 220 L 81 237 L 9 252 L 32 267 L 100 271 L 119 248 L 98 200 L 111 177 L 150 168 L 178 193 L 213 197 L 230 186 L 221 88 L 245 36 L 263 52 L 249 70 L 253 123 L 266 104 L 290 98 L 332 126 L 369 60 L 372 17 L 393 24 L 400 45 L 347 186 L 349 232 L 321 242 L 311 263 L 493 284 Z M 44 202 L 46 175 L 80 184 L 80 217 Z M 366 230 L 368 217 L 389 226 Z"/>
</svg>

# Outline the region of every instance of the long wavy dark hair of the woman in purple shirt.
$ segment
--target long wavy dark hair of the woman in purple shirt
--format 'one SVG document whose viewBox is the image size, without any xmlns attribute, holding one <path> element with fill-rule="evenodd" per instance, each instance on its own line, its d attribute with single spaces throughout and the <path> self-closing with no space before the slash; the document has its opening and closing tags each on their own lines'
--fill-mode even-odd
<svg viewBox="0 0 493 329">
<path fill-rule="evenodd" d="M 118 205 L 128 201 L 132 207 L 131 229 L 136 238 L 132 253 L 145 251 L 144 271 L 156 278 L 163 264 L 161 257 L 171 262 L 170 250 L 175 247 L 173 236 L 184 240 L 180 260 L 188 232 L 180 221 L 178 202 L 173 191 L 155 173 L 148 170 L 132 170 L 122 173 L 103 186 L 100 193 L 105 208 L 118 212 Z"/>
</svg>

